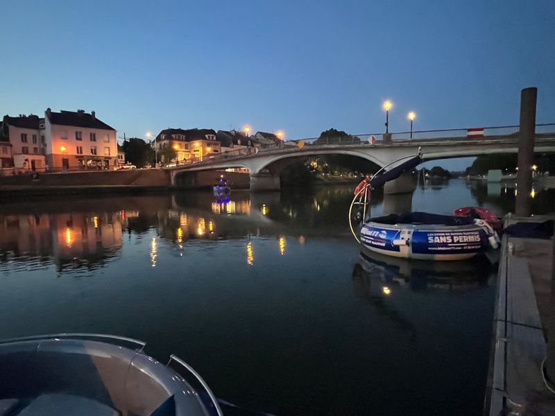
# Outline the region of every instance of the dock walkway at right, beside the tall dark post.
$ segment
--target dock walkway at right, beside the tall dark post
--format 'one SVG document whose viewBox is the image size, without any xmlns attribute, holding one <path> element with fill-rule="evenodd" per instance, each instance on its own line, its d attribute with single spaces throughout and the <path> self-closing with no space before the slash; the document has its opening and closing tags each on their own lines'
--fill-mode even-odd
<svg viewBox="0 0 555 416">
<path fill-rule="evenodd" d="M 507 216 L 504 222 L 508 226 L 548 219 Z M 555 415 L 555 394 L 546 388 L 541 371 L 554 299 L 553 256 L 553 238 L 502 238 L 485 415 Z"/>
</svg>

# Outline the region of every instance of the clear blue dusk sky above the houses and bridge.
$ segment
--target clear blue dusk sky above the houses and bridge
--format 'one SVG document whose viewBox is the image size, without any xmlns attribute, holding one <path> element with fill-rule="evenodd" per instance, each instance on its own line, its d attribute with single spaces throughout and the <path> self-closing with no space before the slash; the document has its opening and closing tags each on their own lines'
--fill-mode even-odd
<svg viewBox="0 0 555 416">
<path fill-rule="evenodd" d="M 3 1 L 1 114 L 96 110 L 119 135 L 318 136 L 555 121 L 553 0 Z M 468 162 L 468 161 L 467 161 Z M 453 168 L 467 162 L 449 162 Z"/>
</svg>

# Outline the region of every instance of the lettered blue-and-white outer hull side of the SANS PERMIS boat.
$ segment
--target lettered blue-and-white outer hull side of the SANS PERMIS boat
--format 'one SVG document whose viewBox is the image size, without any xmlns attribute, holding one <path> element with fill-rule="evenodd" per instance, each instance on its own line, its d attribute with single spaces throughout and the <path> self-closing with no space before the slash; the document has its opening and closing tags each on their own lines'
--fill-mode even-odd
<svg viewBox="0 0 555 416">
<path fill-rule="evenodd" d="M 486 252 L 488 232 L 477 224 L 383 224 L 370 221 L 361 229 L 361 243 L 370 251 L 421 260 L 464 260 Z"/>
</svg>

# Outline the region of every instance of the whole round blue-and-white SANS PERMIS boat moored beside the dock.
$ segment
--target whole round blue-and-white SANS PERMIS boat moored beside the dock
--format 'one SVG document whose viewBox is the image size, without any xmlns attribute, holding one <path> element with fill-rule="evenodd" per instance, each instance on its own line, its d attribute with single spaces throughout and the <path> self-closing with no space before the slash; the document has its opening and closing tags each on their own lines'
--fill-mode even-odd
<svg viewBox="0 0 555 416">
<path fill-rule="evenodd" d="M 413 212 L 370 218 L 360 241 L 370 251 L 393 257 L 463 260 L 497 248 L 499 237 L 484 220 Z"/>
</svg>

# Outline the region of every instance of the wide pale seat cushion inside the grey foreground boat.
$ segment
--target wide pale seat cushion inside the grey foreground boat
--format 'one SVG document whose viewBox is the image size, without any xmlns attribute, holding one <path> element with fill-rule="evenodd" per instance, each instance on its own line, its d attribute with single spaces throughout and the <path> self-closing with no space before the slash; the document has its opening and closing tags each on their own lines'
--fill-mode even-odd
<svg viewBox="0 0 555 416">
<path fill-rule="evenodd" d="M 87 397 L 52 393 L 31 401 L 18 416 L 51 415 L 121 416 L 121 413 Z"/>
</svg>

